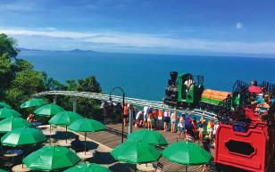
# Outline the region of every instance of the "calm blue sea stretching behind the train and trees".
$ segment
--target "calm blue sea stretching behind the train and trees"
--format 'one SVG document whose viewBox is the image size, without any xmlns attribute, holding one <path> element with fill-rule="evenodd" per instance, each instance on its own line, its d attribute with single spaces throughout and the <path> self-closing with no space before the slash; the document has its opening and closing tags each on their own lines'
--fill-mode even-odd
<svg viewBox="0 0 275 172">
<path fill-rule="evenodd" d="M 129 97 L 162 101 L 170 72 L 204 75 L 204 87 L 231 91 L 237 79 L 275 83 L 275 59 L 134 53 L 21 51 L 31 61 L 62 82 L 95 75 L 104 93 L 121 86 Z"/>
</svg>

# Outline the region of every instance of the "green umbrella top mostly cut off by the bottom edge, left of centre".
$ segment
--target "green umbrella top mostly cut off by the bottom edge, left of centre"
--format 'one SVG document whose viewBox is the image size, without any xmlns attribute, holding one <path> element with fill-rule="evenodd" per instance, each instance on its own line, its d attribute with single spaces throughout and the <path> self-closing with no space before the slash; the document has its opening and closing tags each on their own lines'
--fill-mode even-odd
<svg viewBox="0 0 275 172">
<path fill-rule="evenodd" d="M 109 168 L 104 168 L 95 163 L 79 164 L 73 168 L 69 168 L 63 172 L 112 172 Z"/>
</svg>

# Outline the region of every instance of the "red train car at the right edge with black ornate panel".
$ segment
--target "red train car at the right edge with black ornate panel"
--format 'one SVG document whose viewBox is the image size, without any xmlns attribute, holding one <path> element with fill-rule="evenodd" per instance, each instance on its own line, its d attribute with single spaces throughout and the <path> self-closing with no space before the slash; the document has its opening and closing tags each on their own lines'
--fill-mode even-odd
<svg viewBox="0 0 275 172">
<path fill-rule="evenodd" d="M 253 108 L 243 110 L 245 120 L 221 123 L 216 131 L 214 161 L 217 170 L 234 167 L 266 172 L 274 156 L 274 112 L 269 111 L 269 119 L 262 119 Z"/>
</svg>

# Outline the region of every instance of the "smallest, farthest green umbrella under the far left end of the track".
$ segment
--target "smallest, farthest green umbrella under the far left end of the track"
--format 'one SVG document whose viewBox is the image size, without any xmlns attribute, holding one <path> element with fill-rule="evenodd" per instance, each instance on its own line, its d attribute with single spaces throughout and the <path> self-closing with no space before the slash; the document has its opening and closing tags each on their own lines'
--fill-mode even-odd
<svg viewBox="0 0 275 172">
<path fill-rule="evenodd" d="M 39 116 L 54 116 L 57 113 L 64 111 L 64 109 L 56 104 L 46 104 L 35 111 Z"/>
</svg>

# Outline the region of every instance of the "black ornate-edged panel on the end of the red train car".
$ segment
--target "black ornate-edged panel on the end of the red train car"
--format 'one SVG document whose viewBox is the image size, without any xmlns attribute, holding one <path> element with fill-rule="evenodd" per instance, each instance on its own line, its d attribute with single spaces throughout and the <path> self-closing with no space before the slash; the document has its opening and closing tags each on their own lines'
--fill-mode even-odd
<svg viewBox="0 0 275 172">
<path fill-rule="evenodd" d="M 240 142 L 235 140 L 229 140 L 225 143 L 225 146 L 229 149 L 229 152 L 239 153 L 246 156 L 254 153 L 254 147 L 250 143 Z"/>
</svg>

